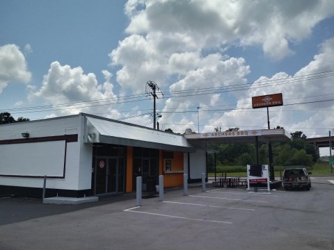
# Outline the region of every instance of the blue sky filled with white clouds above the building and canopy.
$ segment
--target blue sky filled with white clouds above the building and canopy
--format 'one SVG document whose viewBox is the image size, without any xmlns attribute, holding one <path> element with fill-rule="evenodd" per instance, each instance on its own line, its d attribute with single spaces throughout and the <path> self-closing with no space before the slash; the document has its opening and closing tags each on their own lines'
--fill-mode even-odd
<svg viewBox="0 0 334 250">
<path fill-rule="evenodd" d="M 282 93 L 271 128 L 328 136 L 334 1 L 0 0 L 0 112 L 152 127 L 150 81 L 161 130 L 267 128 Z"/>
</svg>

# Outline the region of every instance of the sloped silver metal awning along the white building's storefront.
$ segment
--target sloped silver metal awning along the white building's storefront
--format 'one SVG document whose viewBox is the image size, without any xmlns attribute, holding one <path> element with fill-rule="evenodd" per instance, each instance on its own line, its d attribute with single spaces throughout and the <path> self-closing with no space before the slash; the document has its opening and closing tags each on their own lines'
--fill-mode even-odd
<svg viewBox="0 0 334 250">
<path fill-rule="evenodd" d="M 84 138 L 86 143 L 106 143 L 181 152 L 195 151 L 182 135 L 112 119 L 83 115 L 86 117 Z"/>
</svg>

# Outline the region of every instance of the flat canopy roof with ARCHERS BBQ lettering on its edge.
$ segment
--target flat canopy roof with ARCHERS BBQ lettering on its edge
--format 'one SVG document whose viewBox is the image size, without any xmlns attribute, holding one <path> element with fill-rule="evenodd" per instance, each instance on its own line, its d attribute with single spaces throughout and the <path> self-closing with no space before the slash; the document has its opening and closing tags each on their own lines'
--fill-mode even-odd
<svg viewBox="0 0 334 250">
<path fill-rule="evenodd" d="M 186 134 L 184 138 L 192 145 L 200 146 L 202 144 L 221 144 L 221 143 L 246 143 L 256 142 L 285 142 L 290 140 L 290 135 L 283 128 L 279 129 L 260 129 L 252 131 L 226 131 L 226 132 L 208 132 L 199 134 Z"/>
</svg>

